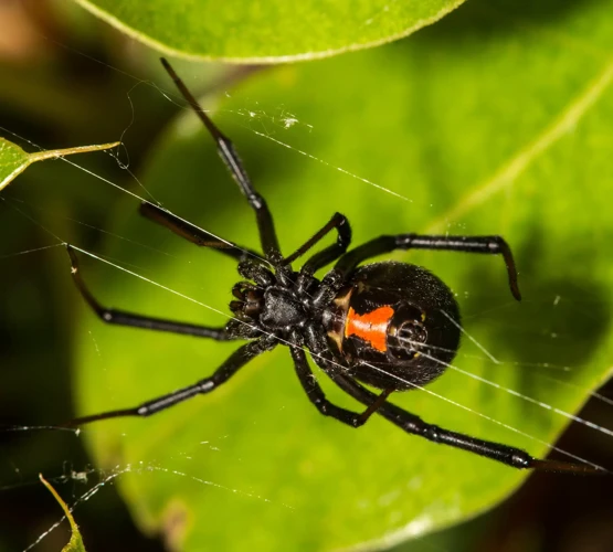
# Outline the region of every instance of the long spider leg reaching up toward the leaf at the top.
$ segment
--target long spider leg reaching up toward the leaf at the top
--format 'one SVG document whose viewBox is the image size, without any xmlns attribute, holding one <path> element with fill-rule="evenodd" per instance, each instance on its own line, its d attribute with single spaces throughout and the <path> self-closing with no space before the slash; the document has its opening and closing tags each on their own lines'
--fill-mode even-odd
<svg viewBox="0 0 613 552">
<path fill-rule="evenodd" d="M 184 83 L 179 78 L 179 75 L 170 66 L 168 61 L 163 57 L 160 59 L 163 68 L 168 72 L 175 84 L 190 104 L 195 114 L 200 117 L 200 120 L 207 127 L 207 130 L 213 137 L 218 146 L 218 152 L 224 163 L 226 164 L 230 173 L 239 184 L 239 188 L 243 192 L 243 195 L 247 199 L 249 204 L 255 211 L 255 216 L 257 220 L 257 229 L 260 231 L 260 241 L 262 243 L 262 248 L 266 255 L 266 258 L 275 266 L 281 265 L 283 262 L 283 256 L 278 246 L 278 240 L 275 232 L 275 226 L 273 223 L 273 216 L 268 210 L 266 201 L 260 193 L 255 191 L 244 167 L 234 149 L 232 141 L 222 134 L 222 131 L 213 124 L 209 116 L 204 113 L 198 100 L 193 97 L 191 92 L 184 85 Z"/>
</svg>

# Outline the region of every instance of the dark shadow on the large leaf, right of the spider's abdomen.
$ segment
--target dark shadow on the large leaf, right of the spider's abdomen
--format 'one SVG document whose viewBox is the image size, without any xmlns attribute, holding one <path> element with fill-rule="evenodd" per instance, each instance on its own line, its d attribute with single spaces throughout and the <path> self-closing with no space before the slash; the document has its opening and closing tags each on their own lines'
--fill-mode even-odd
<svg viewBox="0 0 613 552">
<path fill-rule="evenodd" d="M 493 353 L 500 360 L 579 370 L 590 362 L 607 336 L 611 294 L 592 276 L 596 257 L 584 243 L 560 244 L 557 257 L 549 261 L 557 270 L 542 265 L 543 244 L 545 236 L 535 227 L 522 248 L 515 252 L 524 296 L 520 304 L 501 297 L 492 301 L 478 295 L 466 305 L 465 315 L 473 327 L 483 329 L 480 335 L 490 336 L 489 342 L 496 346 Z M 581 276 L 564 269 L 573 266 L 581 266 Z M 495 269 L 474 272 L 465 288 L 472 289 L 478 283 L 478 289 L 496 290 L 500 288 L 497 278 L 499 272 Z M 529 392 L 529 370 L 521 374 L 521 389 Z"/>
</svg>

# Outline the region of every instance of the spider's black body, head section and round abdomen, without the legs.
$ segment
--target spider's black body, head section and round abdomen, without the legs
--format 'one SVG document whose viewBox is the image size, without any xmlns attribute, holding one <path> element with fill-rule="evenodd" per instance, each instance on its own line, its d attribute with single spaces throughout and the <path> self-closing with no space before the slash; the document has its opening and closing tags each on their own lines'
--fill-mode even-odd
<svg viewBox="0 0 613 552">
<path fill-rule="evenodd" d="M 283 341 L 296 340 L 316 362 L 331 359 L 337 364 L 332 370 L 395 391 L 437 378 L 457 351 L 457 302 L 440 278 L 420 266 L 360 266 L 334 295 L 327 284 L 313 276 L 300 278 L 300 273 L 282 270 L 277 278 L 249 261 L 239 270 L 257 282 L 233 288 L 230 309 L 235 319 L 225 327 L 231 337 L 272 333 Z M 326 302 L 317 300 L 330 296 Z"/>
</svg>

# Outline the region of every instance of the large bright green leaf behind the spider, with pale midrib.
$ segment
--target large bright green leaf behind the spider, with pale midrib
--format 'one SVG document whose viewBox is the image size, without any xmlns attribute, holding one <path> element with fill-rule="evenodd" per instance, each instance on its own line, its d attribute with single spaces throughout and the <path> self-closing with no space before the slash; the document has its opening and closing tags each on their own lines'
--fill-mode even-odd
<svg viewBox="0 0 613 552">
<path fill-rule="evenodd" d="M 213 116 L 268 200 L 286 253 L 335 211 L 351 221 L 355 244 L 405 232 L 509 242 L 521 304 L 499 258 L 390 256 L 447 282 L 465 330 L 495 359 L 465 338 L 442 378 L 391 401 L 542 457 L 613 355 L 613 11 L 498 6 L 473 2 L 402 44 L 263 72 Z M 253 213 L 191 113 L 141 181 L 187 220 L 257 246 Z M 235 264 L 141 220 L 136 203 L 126 201 L 110 230 L 157 251 L 113 240 L 105 253 L 198 302 L 83 258 L 93 293 L 136 312 L 225 323 L 201 304 L 228 312 Z M 107 327 L 89 311 L 78 329 L 81 414 L 195 382 L 236 348 Z M 316 375 L 332 401 L 358 407 Z M 184 550 L 380 548 L 474 517 L 528 476 L 378 416 L 356 431 L 319 415 L 283 347 L 215 393 L 84 435 L 103 467 L 131 466 L 119 486 L 135 518 Z"/>
</svg>

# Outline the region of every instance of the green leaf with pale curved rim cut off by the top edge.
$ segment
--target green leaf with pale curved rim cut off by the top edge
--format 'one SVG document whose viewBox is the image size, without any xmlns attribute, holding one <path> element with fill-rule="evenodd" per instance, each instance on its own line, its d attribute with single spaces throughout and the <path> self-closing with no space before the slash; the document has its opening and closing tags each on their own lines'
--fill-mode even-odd
<svg viewBox="0 0 613 552">
<path fill-rule="evenodd" d="M 327 57 L 406 36 L 463 0 L 76 0 L 165 53 L 271 63 Z"/>
</svg>

